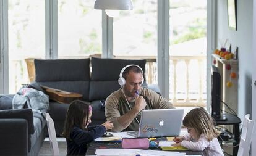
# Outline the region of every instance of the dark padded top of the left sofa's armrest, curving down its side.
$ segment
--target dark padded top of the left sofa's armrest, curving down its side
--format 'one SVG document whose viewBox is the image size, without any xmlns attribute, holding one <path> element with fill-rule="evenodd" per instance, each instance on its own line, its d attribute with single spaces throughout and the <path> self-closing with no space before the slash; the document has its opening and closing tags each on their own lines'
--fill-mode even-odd
<svg viewBox="0 0 256 156">
<path fill-rule="evenodd" d="M 32 109 L 0 110 L 0 118 L 23 118 L 28 122 L 28 134 L 35 132 Z"/>
</svg>

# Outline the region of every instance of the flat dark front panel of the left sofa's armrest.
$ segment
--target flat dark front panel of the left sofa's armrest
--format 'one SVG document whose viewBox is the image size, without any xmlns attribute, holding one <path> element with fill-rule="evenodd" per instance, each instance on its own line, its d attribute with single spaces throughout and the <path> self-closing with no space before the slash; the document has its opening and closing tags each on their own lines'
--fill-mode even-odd
<svg viewBox="0 0 256 156">
<path fill-rule="evenodd" d="M 28 155 L 27 125 L 23 118 L 0 119 L 0 155 Z"/>
</svg>

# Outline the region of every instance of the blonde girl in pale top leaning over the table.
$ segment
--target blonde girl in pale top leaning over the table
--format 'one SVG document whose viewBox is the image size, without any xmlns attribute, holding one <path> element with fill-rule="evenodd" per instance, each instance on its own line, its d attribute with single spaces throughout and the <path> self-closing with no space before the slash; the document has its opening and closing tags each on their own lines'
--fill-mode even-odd
<svg viewBox="0 0 256 156">
<path fill-rule="evenodd" d="M 189 134 L 174 138 L 173 146 L 203 151 L 203 155 L 224 155 L 217 139 L 220 132 L 216 130 L 213 118 L 204 108 L 196 108 L 187 113 L 183 125 Z"/>
</svg>

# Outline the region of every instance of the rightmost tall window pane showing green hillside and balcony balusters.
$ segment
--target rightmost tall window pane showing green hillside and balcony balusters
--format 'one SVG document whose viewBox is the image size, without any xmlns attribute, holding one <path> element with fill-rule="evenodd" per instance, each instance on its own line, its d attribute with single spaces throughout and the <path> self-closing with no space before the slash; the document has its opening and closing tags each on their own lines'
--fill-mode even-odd
<svg viewBox="0 0 256 156">
<path fill-rule="evenodd" d="M 171 1 L 169 12 L 169 99 L 174 105 L 205 105 L 207 1 Z"/>
</svg>

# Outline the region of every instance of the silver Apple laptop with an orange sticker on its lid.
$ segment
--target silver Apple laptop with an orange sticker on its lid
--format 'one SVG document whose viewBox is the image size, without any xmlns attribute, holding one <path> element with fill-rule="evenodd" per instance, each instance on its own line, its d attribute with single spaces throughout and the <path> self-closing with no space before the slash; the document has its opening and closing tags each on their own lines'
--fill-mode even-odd
<svg viewBox="0 0 256 156">
<path fill-rule="evenodd" d="M 129 131 L 130 136 L 140 138 L 179 136 L 184 109 L 142 110 L 138 131 Z"/>
</svg>

